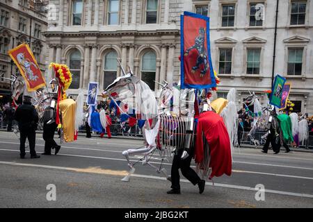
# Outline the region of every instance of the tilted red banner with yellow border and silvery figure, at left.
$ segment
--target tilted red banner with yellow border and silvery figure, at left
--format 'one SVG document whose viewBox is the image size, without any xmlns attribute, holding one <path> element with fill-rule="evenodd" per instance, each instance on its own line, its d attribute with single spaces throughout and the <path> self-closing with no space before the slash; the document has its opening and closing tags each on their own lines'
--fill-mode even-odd
<svg viewBox="0 0 313 222">
<path fill-rule="evenodd" d="M 28 44 L 20 44 L 8 51 L 8 54 L 24 77 L 29 92 L 45 87 L 45 78 L 42 76 L 40 67 Z"/>
</svg>

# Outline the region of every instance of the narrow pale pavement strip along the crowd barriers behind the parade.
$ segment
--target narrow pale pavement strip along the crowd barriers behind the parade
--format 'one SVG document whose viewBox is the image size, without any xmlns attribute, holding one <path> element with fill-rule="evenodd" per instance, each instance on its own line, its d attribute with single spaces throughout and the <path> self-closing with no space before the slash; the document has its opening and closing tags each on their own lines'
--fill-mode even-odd
<svg viewBox="0 0 313 222">
<path fill-rule="evenodd" d="M 6 132 L 6 129 L 0 129 L 0 132 Z M 42 134 L 42 130 L 37 130 L 36 133 L 38 134 Z M 56 133 L 56 135 L 58 135 Z M 86 137 L 86 133 L 78 133 L 79 137 Z M 95 138 L 100 138 L 100 135 L 95 135 L 95 134 L 91 134 L 91 137 L 95 137 Z M 103 139 L 106 139 L 107 135 L 104 135 Z M 144 140 L 143 137 L 134 137 L 134 136 L 122 136 L 122 135 L 118 135 L 118 136 L 113 136 L 113 139 L 133 139 L 133 140 Z M 250 145 L 250 144 L 241 144 L 240 148 L 257 148 L 257 149 L 261 149 L 262 146 L 254 146 L 254 145 Z M 284 147 L 281 148 L 282 151 L 284 151 Z M 313 149 L 306 149 L 306 148 L 291 148 L 291 151 L 294 152 L 303 152 L 303 153 L 313 153 Z"/>
</svg>

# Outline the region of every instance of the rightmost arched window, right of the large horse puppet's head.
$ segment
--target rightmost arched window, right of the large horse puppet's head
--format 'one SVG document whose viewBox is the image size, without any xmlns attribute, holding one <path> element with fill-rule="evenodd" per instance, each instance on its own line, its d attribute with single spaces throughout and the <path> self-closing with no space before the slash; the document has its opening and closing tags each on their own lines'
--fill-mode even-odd
<svg viewBox="0 0 313 222">
<path fill-rule="evenodd" d="M 153 51 L 148 51 L 141 60 L 141 80 L 154 90 L 155 72 L 157 67 L 157 58 Z"/>
</svg>

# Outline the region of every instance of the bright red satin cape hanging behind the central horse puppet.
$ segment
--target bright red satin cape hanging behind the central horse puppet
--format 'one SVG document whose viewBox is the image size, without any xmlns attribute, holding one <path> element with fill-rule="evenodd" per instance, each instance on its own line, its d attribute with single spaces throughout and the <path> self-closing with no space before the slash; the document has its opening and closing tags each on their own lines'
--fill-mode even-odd
<svg viewBox="0 0 313 222">
<path fill-rule="evenodd" d="M 199 115 L 195 141 L 195 162 L 197 164 L 203 161 L 204 156 L 202 134 L 207 139 L 211 151 L 209 167 L 211 167 L 212 172 L 209 178 L 222 176 L 223 173 L 230 176 L 232 173 L 230 137 L 223 118 L 212 111 L 203 112 Z"/>
</svg>

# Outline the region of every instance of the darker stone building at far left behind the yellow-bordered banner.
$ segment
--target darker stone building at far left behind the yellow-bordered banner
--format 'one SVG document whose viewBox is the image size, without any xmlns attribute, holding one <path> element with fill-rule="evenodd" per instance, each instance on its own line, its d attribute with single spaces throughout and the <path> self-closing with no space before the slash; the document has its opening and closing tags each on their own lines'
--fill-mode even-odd
<svg viewBox="0 0 313 222">
<path fill-rule="evenodd" d="M 47 16 L 44 6 L 47 1 L 0 0 L 0 75 L 10 78 L 18 69 L 13 64 L 8 51 L 27 42 L 45 73 L 47 46 L 43 32 L 47 31 Z M 0 94 L 10 97 L 10 81 L 0 78 Z M 1 97 L 4 98 L 4 97 Z"/>
</svg>

